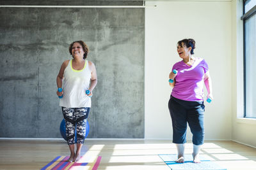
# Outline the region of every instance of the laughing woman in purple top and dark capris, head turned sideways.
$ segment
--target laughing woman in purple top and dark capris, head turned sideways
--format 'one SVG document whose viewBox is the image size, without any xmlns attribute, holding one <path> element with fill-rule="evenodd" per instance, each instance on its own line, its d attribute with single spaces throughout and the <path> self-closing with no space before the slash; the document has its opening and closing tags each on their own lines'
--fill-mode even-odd
<svg viewBox="0 0 256 170">
<path fill-rule="evenodd" d="M 200 146 L 204 143 L 204 84 L 207 98 L 212 97 L 209 67 L 204 59 L 194 57 L 195 40 L 182 39 L 177 43 L 180 62 L 173 65 L 169 78 L 173 87 L 168 103 L 172 117 L 173 143 L 177 146 L 178 159 L 184 163 L 187 123 L 193 134 L 193 162 L 200 163 Z M 172 69 L 172 70 L 173 70 Z"/>
</svg>

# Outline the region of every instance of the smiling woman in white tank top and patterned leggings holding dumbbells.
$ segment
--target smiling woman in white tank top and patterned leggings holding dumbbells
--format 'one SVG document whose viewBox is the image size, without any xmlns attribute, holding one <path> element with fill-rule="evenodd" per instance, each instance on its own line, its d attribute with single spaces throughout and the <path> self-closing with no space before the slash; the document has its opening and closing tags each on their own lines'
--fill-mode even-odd
<svg viewBox="0 0 256 170">
<path fill-rule="evenodd" d="M 67 143 L 70 149 L 69 162 L 77 162 L 81 158 L 92 92 L 97 85 L 95 65 L 86 60 L 88 51 L 88 46 L 83 41 L 71 43 L 69 52 L 73 59 L 63 62 L 56 80 L 57 95 L 60 97 L 60 106 L 66 122 Z M 86 90 L 89 90 L 89 93 L 86 94 Z M 77 129 L 75 129 L 76 125 Z M 76 152 L 75 131 L 77 132 Z"/>
</svg>

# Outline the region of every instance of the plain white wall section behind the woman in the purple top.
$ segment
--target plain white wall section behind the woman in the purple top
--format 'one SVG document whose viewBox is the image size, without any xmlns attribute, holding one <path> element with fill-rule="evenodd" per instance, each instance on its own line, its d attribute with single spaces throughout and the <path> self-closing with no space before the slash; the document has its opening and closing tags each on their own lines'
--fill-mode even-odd
<svg viewBox="0 0 256 170">
<path fill-rule="evenodd" d="M 146 4 L 157 7 L 145 10 L 145 139 L 172 139 L 168 74 L 180 60 L 177 41 L 184 38 L 195 39 L 195 56 L 204 58 L 210 67 L 214 101 L 205 103 L 205 139 L 231 139 L 231 1 Z"/>
</svg>

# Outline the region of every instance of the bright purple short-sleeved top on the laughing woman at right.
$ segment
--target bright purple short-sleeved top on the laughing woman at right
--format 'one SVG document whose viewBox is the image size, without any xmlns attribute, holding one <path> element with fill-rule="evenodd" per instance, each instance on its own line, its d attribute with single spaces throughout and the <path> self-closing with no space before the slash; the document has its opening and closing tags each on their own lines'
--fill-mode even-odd
<svg viewBox="0 0 256 170">
<path fill-rule="evenodd" d="M 195 57 L 192 66 L 188 66 L 181 60 L 176 62 L 172 70 L 178 71 L 175 77 L 175 86 L 172 96 L 184 101 L 204 100 L 204 74 L 208 71 L 208 64 L 204 59 Z"/>
</svg>

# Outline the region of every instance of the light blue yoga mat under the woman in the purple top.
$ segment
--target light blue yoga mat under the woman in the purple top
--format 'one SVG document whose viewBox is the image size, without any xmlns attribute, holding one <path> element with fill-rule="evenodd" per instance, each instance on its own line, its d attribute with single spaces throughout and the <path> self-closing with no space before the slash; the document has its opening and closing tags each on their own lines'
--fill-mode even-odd
<svg viewBox="0 0 256 170">
<path fill-rule="evenodd" d="M 172 170 L 227 170 L 226 168 L 223 168 L 207 159 L 203 155 L 200 155 L 201 163 L 197 164 L 193 163 L 192 155 L 185 155 L 184 163 L 175 162 L 175 160 L 177 160 L 177 154 L 160 154 L 159 157 L 161 157 L 164 163 Z"/>
</svg>

